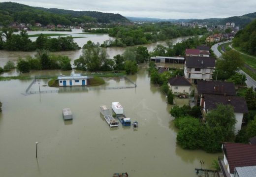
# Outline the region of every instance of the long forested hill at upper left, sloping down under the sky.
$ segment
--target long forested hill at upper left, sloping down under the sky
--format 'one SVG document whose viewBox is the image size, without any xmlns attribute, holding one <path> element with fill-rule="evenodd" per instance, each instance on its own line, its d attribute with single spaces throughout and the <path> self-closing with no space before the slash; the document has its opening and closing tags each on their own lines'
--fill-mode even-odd
<svg viewBox="0 0 256 177">
<path fill-rule="evenodd" d="M 47 9 L 15 2 L 0 2 L 0 25 L 9 25 L 12 22 L 73 25 L 86 22 L 111 23 L 129 21 L 120 14 Z"/>
</svg>

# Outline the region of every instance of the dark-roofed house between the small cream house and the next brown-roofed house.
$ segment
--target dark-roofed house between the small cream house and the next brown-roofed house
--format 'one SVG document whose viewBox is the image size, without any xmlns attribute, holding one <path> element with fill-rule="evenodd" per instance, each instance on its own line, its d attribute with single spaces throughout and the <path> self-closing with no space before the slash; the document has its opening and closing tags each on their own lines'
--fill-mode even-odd
<svg viewBox="0 0 256 177">
<path fill-rule="evenodd" d="M 202 98 L 204 94 L 235 96 L 235 85 L 233 82 L 199 80 L 197 81 L 197 86 L 194 90 L 195 105 L 203 105 Z"/>
</svg>

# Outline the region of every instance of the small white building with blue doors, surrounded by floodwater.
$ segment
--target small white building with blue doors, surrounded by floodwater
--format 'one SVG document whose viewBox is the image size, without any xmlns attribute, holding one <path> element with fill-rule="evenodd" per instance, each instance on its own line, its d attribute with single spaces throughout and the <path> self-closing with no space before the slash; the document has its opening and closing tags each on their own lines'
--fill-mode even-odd
<svg viewBox="0 0 256 177">
<path fill-rule="evenodd" d="M 87 86 L 90 85 L 90 79 L 93 76 L 59 76 L 59 86 Z"/>
</svg>

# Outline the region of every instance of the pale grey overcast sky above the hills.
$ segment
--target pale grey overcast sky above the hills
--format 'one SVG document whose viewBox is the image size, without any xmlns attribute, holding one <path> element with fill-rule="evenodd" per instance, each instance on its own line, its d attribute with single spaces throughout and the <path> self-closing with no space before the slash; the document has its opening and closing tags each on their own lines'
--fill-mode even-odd
<svg viewBox="0 0 256 177">
<path fill-rule="evenodd" d="M 0 0 L 4 2 L 6 0 Z M 224 18 L 256 11 L 256 0 L 12 0 L 30 6 L 161 19 Z"/>
</svg>

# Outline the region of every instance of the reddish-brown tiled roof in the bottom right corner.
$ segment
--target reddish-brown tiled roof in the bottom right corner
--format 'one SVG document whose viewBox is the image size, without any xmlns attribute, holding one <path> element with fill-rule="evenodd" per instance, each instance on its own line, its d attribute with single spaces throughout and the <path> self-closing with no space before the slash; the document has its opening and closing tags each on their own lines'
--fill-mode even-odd
<svg viewBox="0 0 256 177">
<path fill-rule="evenodd" d="M 256 165 L 256 145 L 224 143 L 223 150 L 231 174 L 235 173 L 235 167 Z"/>
</svg>

